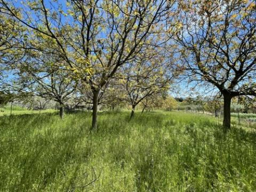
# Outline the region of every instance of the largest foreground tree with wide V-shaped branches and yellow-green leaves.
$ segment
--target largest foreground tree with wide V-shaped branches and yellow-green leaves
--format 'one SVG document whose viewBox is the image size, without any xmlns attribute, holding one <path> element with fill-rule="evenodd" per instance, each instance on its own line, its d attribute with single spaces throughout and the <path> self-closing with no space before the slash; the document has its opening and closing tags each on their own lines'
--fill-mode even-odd
<svg viewBox="0 0 256 192">
<path fill-rule="evenodd" d="M 26 6 L 1 0 L 9 14 L 30 28 L 36 50 L 65 59 L 67 69 L 93 92 L 92 129 L 96 129 L 100 90 L 117 69 L 133 59 L 154 33 L 161 33 L 163 20 L 175 1 L 26 1 Z M 15 7 L 13 7 L 15 5 Z M 65 9 L 63 8 L 65 7 Z M 64 11 L 66 10 L 66 11 Z M 33 35 L 35 34 L 35 35 Z M 65 46 L 64 46 L 65 45 Z M 67 48 L 66 48 L 67 46 Z"/>
</svg>

